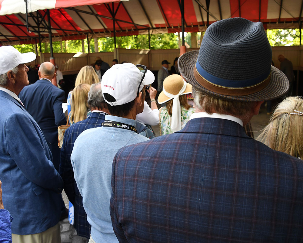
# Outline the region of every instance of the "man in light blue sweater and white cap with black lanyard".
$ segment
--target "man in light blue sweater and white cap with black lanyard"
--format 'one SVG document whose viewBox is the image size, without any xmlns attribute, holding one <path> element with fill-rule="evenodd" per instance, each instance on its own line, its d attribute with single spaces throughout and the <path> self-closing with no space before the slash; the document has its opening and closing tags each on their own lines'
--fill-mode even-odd
<svg viewBox="0 0 303 243">
<path fill-rule="evenodd" d="M 71 161 L 92 225 L 89 242 L 118 242 L 108 209 L 112 161 L 120 148 L 149 140 L 139 134 L 147 127 L 135 119 L 143 111 L 145 85 L 154 80 L 154 74 L 143 65 L 123 63 L 108 69 L 101 85 L 111 115 L 105 115 L 102 127 L 82 132 L 75 141 Z"/>
</svg>

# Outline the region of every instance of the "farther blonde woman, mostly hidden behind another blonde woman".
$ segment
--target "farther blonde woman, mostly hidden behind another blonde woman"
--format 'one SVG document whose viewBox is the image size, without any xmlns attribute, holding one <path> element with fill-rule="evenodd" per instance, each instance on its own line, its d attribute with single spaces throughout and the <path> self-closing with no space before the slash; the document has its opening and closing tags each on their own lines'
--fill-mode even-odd
<svg viewBox="0 0 303 243">
<path fill-rule="evenodd" d="M 79 84 L 96 84 L 99 83 L 98 75 L 95 72 L 95 69 L 92 66 L 84 66 L 80 69 L 76 81 L 75 81 L 75 87 Z M 71 112 L 71 106 L 72 106 L 72 91 L 68 93 L 67 97 L 67 111 L 68 114 Z"/>
</svg>

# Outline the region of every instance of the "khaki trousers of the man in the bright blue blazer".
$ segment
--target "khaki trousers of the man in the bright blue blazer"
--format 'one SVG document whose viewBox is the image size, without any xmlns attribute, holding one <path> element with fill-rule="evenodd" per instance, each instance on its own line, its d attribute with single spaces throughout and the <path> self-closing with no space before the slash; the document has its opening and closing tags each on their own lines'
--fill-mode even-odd
<svg viewBox="0 0 303 243">
<path fill-rule="evenodd" d="M 61 243 L 60 223 L 37 234 L 12 234 L 13 243 Z"/>
</svg>

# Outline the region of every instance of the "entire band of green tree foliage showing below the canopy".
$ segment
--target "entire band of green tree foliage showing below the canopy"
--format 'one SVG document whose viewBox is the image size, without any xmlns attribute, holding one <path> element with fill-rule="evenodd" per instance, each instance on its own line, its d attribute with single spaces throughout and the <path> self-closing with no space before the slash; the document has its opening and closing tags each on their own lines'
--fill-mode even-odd
<svg viewBox="0 0 303 243">
<path fill-rule="evenodd" d="M 197 33 L 198 47 L 200 44 L 201 36 L 204 32 Z M 300 41 L 299 29 L 268 29 L 268 40 L 271 46 L 297 46 Z M 84 50 L 88 52 L 87 39 L 84 39 Z M 151 49 L 177 49 L 178 48 L 178 34 L 177 33 L 162 33 L 151 35 L 150 38 Z M 185 43 L 191 47 L 191 33 L 185 32 Z M 65 45 L 66 44 L 66 45 Z M 65 48 L 66 46 L 66 48 Z M 148 35 L 134 35 L 134 36 L 117 36 L 117 48 L 125 49 L 148 49 Z M 22 53 L 35 52 L 35 44 L 22 44 L 14 46 Z M 94 39 L 89 42 L 90 52 L 95 52 Z M 99 52 L 113 52 L 114 51 L 114 38 L 102 37 L 98 38 Z M 49 43 L 42 43 L 42 53 L 49 53 Z M 82 40 L 67 40 L 53 42 L 54 53 L 78 53 L 82 52 Z"/>
</svg>

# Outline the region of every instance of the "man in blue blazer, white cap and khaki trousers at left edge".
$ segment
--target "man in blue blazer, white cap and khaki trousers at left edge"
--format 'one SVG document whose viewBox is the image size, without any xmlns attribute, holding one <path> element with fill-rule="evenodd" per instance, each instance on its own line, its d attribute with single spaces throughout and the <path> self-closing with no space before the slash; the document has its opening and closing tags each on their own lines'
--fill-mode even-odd
<svg viewBox="0 0 303 243">
<path fill-rule="evenodd" d="M 3 204 L 14 218 L 13 242 L 61 242 L 63 181 L 52 163 L 44 135 L 18 98 L 29 84 L 23 63 L 35 53 L 0 47 L 0 175 Z"/>
</svg>

